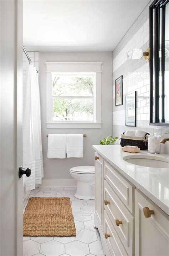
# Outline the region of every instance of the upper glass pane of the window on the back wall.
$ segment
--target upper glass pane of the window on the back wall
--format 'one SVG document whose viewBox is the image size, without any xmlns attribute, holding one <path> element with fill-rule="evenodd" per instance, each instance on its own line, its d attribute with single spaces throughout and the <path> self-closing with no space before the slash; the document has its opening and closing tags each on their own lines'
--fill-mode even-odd
<svg viewBox="0 0 169 256">
<path fill-rule="evenodd" d="M 53 77 L 53 96 L 93 96 L 94 76 Z"/>
</svg>

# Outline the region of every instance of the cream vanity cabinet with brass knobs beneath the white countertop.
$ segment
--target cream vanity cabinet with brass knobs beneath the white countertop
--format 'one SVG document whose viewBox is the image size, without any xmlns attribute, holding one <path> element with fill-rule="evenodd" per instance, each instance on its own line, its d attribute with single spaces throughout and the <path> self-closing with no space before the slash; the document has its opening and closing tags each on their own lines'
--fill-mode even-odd
<svg viewBox="0 0 169 256">
<path fill-rule="evenodd" d="M 104 255 L 168 256 L 169 216 L 109 159 L 106 154 L 104 158 L 104 154 L 95 153 L 94 224 Z"/>
</svg>

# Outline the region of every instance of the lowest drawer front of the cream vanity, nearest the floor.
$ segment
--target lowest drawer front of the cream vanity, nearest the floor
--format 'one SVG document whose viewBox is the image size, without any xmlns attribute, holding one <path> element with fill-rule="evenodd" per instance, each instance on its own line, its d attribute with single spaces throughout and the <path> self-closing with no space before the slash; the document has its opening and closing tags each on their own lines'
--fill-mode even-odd
<svg viewBox="0 0 169 256">
<path fill-rule="evenodd" d="M 109 251 L 112 256 L 128 256 L 119 236 L 112 225 L 106 211 L 104 211 L 104 236 L 105 233 L 110 235 L 107 239 L 105 239 Z"/>
</svg>

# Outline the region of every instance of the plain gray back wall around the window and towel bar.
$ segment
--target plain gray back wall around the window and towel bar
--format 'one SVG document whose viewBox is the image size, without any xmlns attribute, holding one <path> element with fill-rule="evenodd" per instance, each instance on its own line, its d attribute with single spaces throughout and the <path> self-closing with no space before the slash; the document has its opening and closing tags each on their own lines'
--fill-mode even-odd
<svg viewBox="0 0 169 256">
<path fill-rule="evenodd" d="M 98 61 L 101 66 L 101 129 L 46 129 L 46 61 Z M 41 128 L 43 179 L 72 179 L 69 169 L 78 165 L 94 165 L 93 144 L 112 133 L 112 52 L 40 52 L 39 86 L 41 98 Z M 48 159 L 47 133 L 86 133 L 83 158 Z"/>
</svg>

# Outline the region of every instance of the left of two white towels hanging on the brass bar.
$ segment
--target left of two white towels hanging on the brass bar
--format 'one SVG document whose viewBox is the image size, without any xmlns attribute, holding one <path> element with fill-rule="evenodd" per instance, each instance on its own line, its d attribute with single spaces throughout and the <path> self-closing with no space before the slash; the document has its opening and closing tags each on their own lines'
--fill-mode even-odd
<svg viewBox="0 0 169 256">
<path fill-rule="evenodd" d="M 66 158 L 66 134 L 48 135 L 48 158 Z"/>
</svg>

